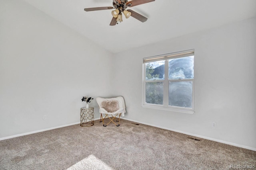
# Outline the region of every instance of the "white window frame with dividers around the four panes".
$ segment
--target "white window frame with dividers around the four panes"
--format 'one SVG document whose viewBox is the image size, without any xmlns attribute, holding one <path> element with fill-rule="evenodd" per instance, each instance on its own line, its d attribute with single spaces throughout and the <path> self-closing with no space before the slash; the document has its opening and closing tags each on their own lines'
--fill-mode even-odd
<svg viewBox="0 0 256 170">
<path fill-rule="evenodd" d="M 160 109 L 166 111 L 174 111 L 179 113 L 189 113 L 193 114 L 194 111 L 194 79 L 177 79 L 177 80 L 169 80 L 168 79 L 168 60 L 176 59 L 182 57 L 188 57 L 194 55 L 194 49 L 187 51 L 180 51 L 177 53 L 169 53 L 164 55 L 158 55 L 153 57 L 143 58 L 142 60 L 142 107 L 152 108 L 152 109 Z M 164 80 L 146 80 L 146 64 L 154 61 L 165 61 L 164 63 Z M 166 74 L 167 73 L 167 74 Z M 169 82 L 181 82 L 181 81 L 190 81 L 192 82 L 192 108 L 186 107 L 178 107 L 178 106 L 169 106 Z M 146 103 L 146 82 L 164 82 L 164 101 L 163 105 L 158 104 L 148 104 Z M 167 85 L 165 85 L 167 84 Z"/>
</svg>

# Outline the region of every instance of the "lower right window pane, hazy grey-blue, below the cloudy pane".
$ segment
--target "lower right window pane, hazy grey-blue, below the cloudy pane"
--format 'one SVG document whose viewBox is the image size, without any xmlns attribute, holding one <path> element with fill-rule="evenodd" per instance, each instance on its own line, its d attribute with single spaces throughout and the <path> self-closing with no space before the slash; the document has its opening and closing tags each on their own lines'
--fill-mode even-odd
<svg viewBox="0 0 256 170">
<path fill-rule="evenodd" d="M 169 82 L 169 106 L 192 108 L 192 82 Z"/>
</svg>

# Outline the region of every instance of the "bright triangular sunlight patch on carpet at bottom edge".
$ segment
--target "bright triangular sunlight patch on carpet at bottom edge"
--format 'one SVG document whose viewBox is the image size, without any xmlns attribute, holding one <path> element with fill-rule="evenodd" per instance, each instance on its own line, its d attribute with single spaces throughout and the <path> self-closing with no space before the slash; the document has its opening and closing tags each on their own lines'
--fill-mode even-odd
<svg viewBox="0 0 256 170">
<path fill-rule="evenodd" d="M 67 170 L 113 170 L 107 164 L 96 158 L 93 154 L 80 160 Z"/>
</svg>

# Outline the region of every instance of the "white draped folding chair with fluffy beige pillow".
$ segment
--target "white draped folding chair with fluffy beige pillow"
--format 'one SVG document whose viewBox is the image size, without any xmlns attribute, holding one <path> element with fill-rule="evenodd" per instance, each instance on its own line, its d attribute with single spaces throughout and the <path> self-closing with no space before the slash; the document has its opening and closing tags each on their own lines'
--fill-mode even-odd
<svg viewBox="0 0 256 170">
<path fill-rule="evenodd" d="M 124 116 L 124 113 L 126 112 L 124 98 L 122 96 L 116 98 L 98 97 L 96 98 L 96 101 L 100 107 L 100 122 L 103 121 L 103 126 L 106 127 L 110 122 L 113 122 L 116 126 L 119 126 L 120 115 L 122 114 L 122 116 Z M 103 117 L 102 114 L 105 114 L 105 117 Z M 117 115 L 119 115 L 118 120 L 116 120 Z M 110 121 L 105 125 L 104 120 L 106 117 L 108 117 Z M 113 120 L 118 121 L 118 125 Z"/>
</svg>

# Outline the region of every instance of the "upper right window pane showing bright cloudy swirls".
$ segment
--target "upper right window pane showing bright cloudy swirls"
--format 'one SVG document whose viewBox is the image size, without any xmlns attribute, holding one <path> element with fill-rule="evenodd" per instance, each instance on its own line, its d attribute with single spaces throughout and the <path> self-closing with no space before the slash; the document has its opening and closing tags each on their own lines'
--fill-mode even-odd
<svg viewBox="0 0 256 170">
<path fill-rule="evenodd" d="M 194 56 L 170 59 L 169 79 L 191 79 L 194 78 Z"/>
</svg>

